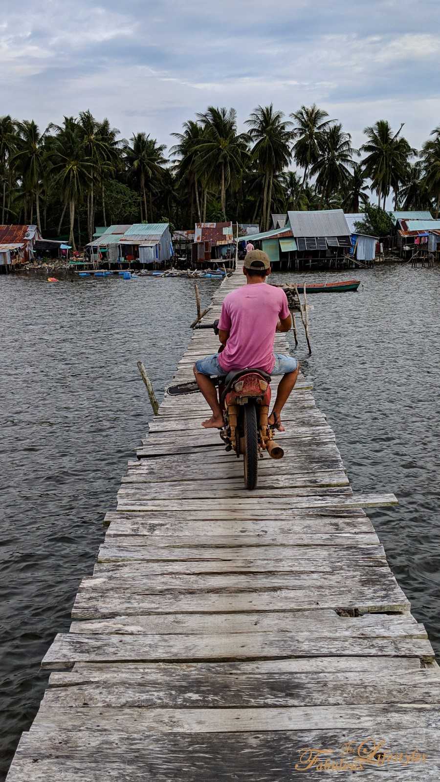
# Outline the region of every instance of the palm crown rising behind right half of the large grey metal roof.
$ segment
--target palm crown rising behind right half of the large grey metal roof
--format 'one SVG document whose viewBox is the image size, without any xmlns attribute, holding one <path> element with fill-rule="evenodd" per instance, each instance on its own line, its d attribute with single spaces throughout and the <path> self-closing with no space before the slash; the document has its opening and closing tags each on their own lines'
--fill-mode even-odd
<svg viewBox="0 0 440 782">
<path fill-rule="evenodd" d="M 350 169 L 354 165 L 353 156 L 359 152 L 352 147 L 352 137 L 344 133 L 340 123 L 325 131 L 320 147 L 319 158 L 310 173 L 312 177 L 316 176 L 316 189 L 328 201 L 330 195 L 348 185 L 352 176 Z"/>
</svg>

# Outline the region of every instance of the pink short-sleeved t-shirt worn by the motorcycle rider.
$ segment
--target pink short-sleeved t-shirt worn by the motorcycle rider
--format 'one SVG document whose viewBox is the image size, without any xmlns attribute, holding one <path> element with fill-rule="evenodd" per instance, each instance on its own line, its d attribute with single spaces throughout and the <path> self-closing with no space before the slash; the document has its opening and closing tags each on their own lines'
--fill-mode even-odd
<svg viewBox="0 0 440 782">
<path fill-rule="evenodd" d="M 218 363 L 225 371 L 259 368 L 272 372 L 273 342 L 278 319 L 289 317 L 287 296 L 266 282 L 243 285 L 222 304 L 218 328 L 229 332 Z"/>
</svg>

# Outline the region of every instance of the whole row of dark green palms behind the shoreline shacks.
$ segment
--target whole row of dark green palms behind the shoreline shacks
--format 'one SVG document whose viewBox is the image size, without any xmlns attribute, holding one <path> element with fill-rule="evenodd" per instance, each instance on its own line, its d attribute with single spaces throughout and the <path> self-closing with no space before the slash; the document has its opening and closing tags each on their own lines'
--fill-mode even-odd
<svg viewBox="0 0 440 782">
<path fill-rule="evenodd" d="M 290 114 L 258 106 L 239 132 L 235 109 L 209 106 L 166 147 L 145 132 L 120 138 L 90 111 L 44 131 L 0 117 L 2 224 L 37 224 L 75 246 L 96 224 L 233 220 L 270 227 L 272 212 L 358 212 L 369 189 L 384 209 L 440 211 L 440 125 L 421 149 L 387 120 L 364 129 L 359 149 L 318 106 Z M 292 166 L 296 170 L 292 170 Z"/>
</svg>

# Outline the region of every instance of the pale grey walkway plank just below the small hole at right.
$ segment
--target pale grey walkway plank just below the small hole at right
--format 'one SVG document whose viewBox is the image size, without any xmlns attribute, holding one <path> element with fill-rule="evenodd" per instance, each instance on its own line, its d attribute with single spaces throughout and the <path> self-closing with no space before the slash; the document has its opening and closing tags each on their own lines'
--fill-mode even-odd
<svg viewBox="0 0 440 782">
<path fill-rule="evenodd" d="M 124 633 L 126 635 L 181 633 L 184 635 L 222 635 L 229 633 L 297 633 L 319 638 L 368 637 L 426 638 L 423 625 L 406 615 L 383 616 L 365 614 L 362 617 L 341 617 L 333 611 L 250 612 L 248 614 L 150 614 L 147 616 L 116 616 L 113 619 L 92 619 L 72 622 L 71 633 Z"/>
</svg>

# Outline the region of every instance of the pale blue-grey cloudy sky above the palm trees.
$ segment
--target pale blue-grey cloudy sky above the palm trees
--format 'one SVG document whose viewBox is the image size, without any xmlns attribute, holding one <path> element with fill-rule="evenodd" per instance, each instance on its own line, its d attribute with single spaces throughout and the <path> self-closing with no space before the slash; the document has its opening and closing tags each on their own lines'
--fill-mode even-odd
<svg viewBox="0 0 440 782">
<path fill-rule="evenodd" d="M 438 0 L 6 0 L 0 114 L 45 127 L 89 108 L 171 145 L 209 104 L 242 124 L 259 103 L 316 102 L 355 145 L 386 118 L 420 147 L 440 124 L 439 55 Z"/>
</svg>

